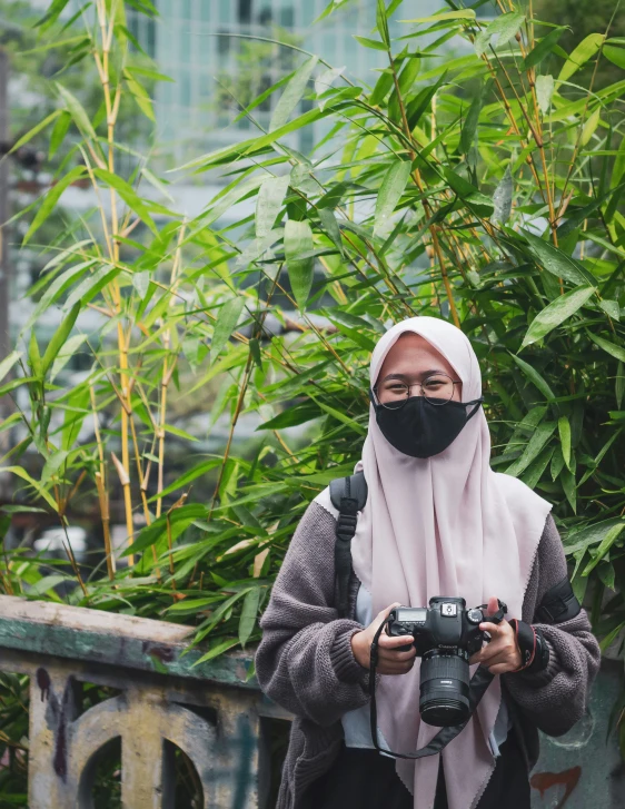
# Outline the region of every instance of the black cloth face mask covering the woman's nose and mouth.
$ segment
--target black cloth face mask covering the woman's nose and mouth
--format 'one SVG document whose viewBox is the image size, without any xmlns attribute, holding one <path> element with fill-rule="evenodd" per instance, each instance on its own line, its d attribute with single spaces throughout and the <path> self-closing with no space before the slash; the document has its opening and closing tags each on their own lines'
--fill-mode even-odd
<svg viewBox="0 0 625 809">
<path fill-rule="evenodd" d="M 479 410 L 483 398 L 473 402 L 431 404 L 425 396 L 411 396 L 403 407 L 390 410 L 369 398 L 384 437 L 404 455 L 431 457 L 446 450 L 460 434 L 468 420 Z M 467 406 L 475 405 L 467 415 Z"/>
</svg>

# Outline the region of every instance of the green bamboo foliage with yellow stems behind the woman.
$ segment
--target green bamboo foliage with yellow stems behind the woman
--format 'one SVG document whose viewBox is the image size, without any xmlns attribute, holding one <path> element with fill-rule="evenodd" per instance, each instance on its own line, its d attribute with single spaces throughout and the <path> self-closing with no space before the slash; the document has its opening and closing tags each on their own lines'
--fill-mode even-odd
<svg viewBox="0 0 625 809">
<path fill-rule="evenodd" d="M 22 377 L 2 388 L 29 397 L 2 427 L 20 502 L 63 526 L 77 503 L 99 503 L 107 573 L 85 575 L 67 543 L 72 603 L 195 620 L 209 657 L 257 640 L 298 519 L 359 457 L 369 352 L 386 326 L 427 314 L 470 338 L 494 467 L 554 503 L 595 630 L 604 647 L 622 638 L 625 76 L 597 88 L 576 71 L 618 67 L 623 42 L 605 53 L 602 31 L 567 52 L 519 3 L 490 22 L 472 9 L 401 22 L 400 2 L 378 0 L 377 31 L 359 40 L 387 53 L 376 83 L 302 57 L 267 90 L 281 93 L 268 131 L 182 167 L 226 184 L 189 220 L 146 160 L 117 170 L 116 99 L 132 95 L 148 117 L 149 100 L 140 73 L 129 83 L 122 18 L 96 9 L 108 126 L 59 89 L 80 162 L 58 180 L 86 170 L 111 204 L 42 273 L 29 327 L 50 307 L 61 324 L 47 346 L 24 334 L 11 359 Z M 312 152 L 296 151 L 289 136 L 320 121 Z M 254 197 L 255 216 L 221 226 Z M 54 204 L 50 191 L 31 229 Z M 85 312 L 92 367 L 63 386 L 54 367 Z M 181 426 L 195 394 L 210 430 L 226 424 L 218 452 Z M 242 425 L 254 438 L 238 440 Z M 27 455 L 39 467 L 20 467 Z M 120 517 L 126 568 L 110 539 Z M 18 552 L 4 591 L 32 592 L 40 564 Z"/>
</svg>

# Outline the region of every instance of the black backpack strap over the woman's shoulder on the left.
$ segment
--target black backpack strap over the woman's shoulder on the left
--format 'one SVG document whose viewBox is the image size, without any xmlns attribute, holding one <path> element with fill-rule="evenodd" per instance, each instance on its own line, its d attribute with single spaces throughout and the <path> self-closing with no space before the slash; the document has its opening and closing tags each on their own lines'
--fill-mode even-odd
<svg viewBox="0 0 625 809">
<path fill-rule="evenodd" d="M 351 540 L 356 533 L 358 512 L 367 502 L 367 482 L 363 472 L 330 481 L 330 500 L 338 510 L 336 521 L 335 573 L 339 618 L 347 615 L 349 578 L 351 575 Z"/>
</svg>

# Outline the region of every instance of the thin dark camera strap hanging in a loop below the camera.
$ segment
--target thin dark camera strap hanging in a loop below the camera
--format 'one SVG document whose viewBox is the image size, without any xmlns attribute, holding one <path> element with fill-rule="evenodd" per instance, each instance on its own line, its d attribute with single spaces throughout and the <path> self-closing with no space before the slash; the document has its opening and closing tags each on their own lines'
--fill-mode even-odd
<svg viewBox="0 0 625 809">
<path fill-rule="evenodd" d="M 498 602 L 498 610 L 494 615 L 488 615 L 485 620 L 487 620 L 489 623 L 500 623 L 504 620 L 504 616 L 506 614 L 507 608 L 505 604 L 503 604 L 500 601 Z M 487 609 L 486 604 L 482 604 L 479 608 L 485 610 Z M 380 635 L 385 629 L 385 627 L 388 623 L 388 619 L 386 621 L 383 621 L 380 625 L 378 627 L 376 634 L 374 637 L 373 643 L 371 643 L 371 653 L 370 653 L 370 663 L 369 663 L 369 697 L 370 697 L 370 728 L 371 728 L 371 740 L 374 742 L 374 747 L 376 750 L 380 753 L 385 753 L 386 756 L 391 756 L 395 759 L 423 759 L 426 756 L 436 756 L 436 753 L 439 753 L 444 748 L 447 747 L 447 744 L 455 739 L 459 733 L 463 732 L 463 730 L 466 728 L 466 726 L 469 723 L 473 714 L 475 713 L 477 706 L 479 704 L 482 698 L 486 693 L 486 690 L 488 689 L 488 685 L 493 682 L 494 674 L 492 674 L 487 668 L 484 665 L 480 665 L 475 674 L 472 677 L 469 682 L 469 716 L 468 719 L 460 724 L 454 724 L 449 726 L 447 728 L 442 728 L 438 733 L 431 739 L 426 747 L 420 748 L 420 750 L 417 750 L 414 753 L 396 753 L 393 752 L 393 750 L 387 750 L 379 746 L 378 743 L 378 710 L 377 710 L 377 703 L 376 703 L 376 669 L 378 663 L 378 643 Z"/>
</svg>

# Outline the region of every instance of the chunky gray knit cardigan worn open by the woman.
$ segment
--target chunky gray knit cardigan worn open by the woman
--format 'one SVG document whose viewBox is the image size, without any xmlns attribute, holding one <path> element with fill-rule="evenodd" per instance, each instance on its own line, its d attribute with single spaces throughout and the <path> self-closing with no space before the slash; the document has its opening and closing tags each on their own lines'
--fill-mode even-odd
<svg viewBox="0 0 625 809">
<path fill-rule="evenodd" d="M 349 615 L 335 606 L 335 517 L 312 502 L 306 510 L 261 618 L 256 671 L 264 692 L 295 714 L 276 809 L 312 809 L 306 790 L 335 761 L 347 711 L 368 702 L 368 671 L 351 651 L 360 582 L 349 589 Z M 522 619 L 534 623 L 544 593 L 566 575 L 559 534 L 549 515 L 538 545 Z M 536 674 L 502 677 L 508 711 L 528 769 L 538 758 L 538 729 L 560 736 L 584 714 L 599 649 L 584 610 L 557 625 L 539 625 L 550 653 Z"/>
</svg>

